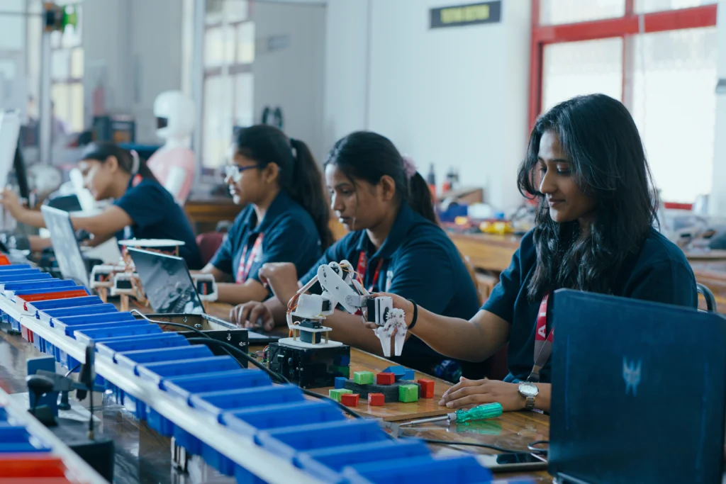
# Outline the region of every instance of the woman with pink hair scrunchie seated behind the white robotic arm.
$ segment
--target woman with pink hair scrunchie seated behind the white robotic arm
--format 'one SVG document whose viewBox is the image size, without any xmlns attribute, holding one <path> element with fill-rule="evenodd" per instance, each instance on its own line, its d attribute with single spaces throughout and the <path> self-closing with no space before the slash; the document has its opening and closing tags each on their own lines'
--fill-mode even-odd
<svg viewBox="0 0 726 484">
<path fill-rule="evenodd" d="M 347 260 L 357 267 L 368 290 L 394 292 L 456 318 L 476 313 L 476 288 L 457 248 L 436 221 L 431 192 L 391 141 L 369 132 L 340 139 L 325 163 L 325 180 L 333 210 L 350 233 L 325 251 L 300 284 L 309 282 L 321 264 Z M 248 327 L 257 327 L 261 320 L 270 330 L 274 324 L 285 324 L 285 305 L 298 290 L 301 273 L 274 264 L 262 272 L 277 298 L 240 306 L 233 320 Z M 380 340 L 360 324 L 360 316 L 335 311 L 325 325 L 333 328 L 334 340 L 383 354 Z M 397 359 L 431 373 L 444 358 L 414 337 Z"/>
</svg>

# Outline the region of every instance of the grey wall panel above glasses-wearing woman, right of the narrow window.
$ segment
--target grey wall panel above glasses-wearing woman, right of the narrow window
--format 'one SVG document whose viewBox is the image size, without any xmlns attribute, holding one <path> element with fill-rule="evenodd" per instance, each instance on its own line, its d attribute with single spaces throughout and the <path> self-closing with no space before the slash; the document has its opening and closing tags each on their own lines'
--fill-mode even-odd
<svg viewBox="0 0 726 484">
<path fill-rule="evenodd" d="M 306 141 L 319 160 L 325 151 L 325 7 L 258 3 L 253 8 L 255 120 L 260 120 L 265 106 L 281 107 L 285 133 Z M 287 36 L 287 46 L 267 49 L 269 38 L 279 36 Z"/>
</svg>

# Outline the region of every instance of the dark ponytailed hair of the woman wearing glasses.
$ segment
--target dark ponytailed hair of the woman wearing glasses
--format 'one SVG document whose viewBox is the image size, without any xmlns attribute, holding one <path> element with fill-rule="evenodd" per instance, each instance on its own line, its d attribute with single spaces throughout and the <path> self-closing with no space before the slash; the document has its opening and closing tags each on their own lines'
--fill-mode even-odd
<svg viewBox="0 0 726 484">
<path fill-rule="evenodd" d="M 275 163 L 280 168 L 280 189 L 310 214 L 322 248 L 325 250 L 333 244 L 329 226 L 330 208 L 323 191 L 322 174 L 303 141 L 288 138 L 274 126 L 258 124 L 237 131 L 234 149 L 262 167 Z"/>
</svg>

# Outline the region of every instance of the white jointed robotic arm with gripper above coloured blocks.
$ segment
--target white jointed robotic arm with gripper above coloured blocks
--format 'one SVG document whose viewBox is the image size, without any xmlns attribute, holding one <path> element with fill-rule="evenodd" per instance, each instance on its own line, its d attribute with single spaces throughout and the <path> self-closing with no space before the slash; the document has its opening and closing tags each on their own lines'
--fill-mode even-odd
<svg viewBox="0 0 726 484">
<path fill-rule="evenodd" d="M 375 322 L 378 326 L 373 331 L 380 340 L 383 354 L 391 356 L 391 336 L 393 336 L 396 356 L 401 356 L 408 329 L 404 311 L 394 309 L 391 298 L 385 296 L 372 298 L 370 292 L 365 290 L 356 277 L 357 274 L 348 261 L 320 266 L 317 276 L 301 287 L 287 305 L 287 327 L 293 335 L 280 340 L 279 343 L 301 348 L 340 346 L 341 343 L 338 341 L 328 340 L 327 333 L 331 329 L 322 325 L 325 317 L 333 314 L 335 306 L 340 304 L 353 314 L 362 308 L 367 308 L 367 320 Z M 305 294 L 316 282 L 322 287 L 322 294 Z M 303 321 L 293 322 L 293 316 L 302 318 Z"/>
</svg>

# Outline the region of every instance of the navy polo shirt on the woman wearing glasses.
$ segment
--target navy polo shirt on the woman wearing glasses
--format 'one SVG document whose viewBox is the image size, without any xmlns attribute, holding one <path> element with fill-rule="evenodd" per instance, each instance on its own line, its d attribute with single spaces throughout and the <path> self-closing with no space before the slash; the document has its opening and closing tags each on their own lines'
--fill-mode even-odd
<svg viewBox="0 0 726 484">
<path fill-rule="evenodd" d="M 320 234 L 310 214 L 285 192 L 280 192 L 259 223 L 252 205 L 240 212 L 227 239 L 212 258 L 212 265 L 224 274 L 236 277 L 245 247 L 246 267 L 260 236 L 261 250 L 254 254 L 247 279 L 259 281 L 258 272 L 268 262 L 291 262 L 298 274 L 305 274 L 322 253 Z"/>
</svg>

